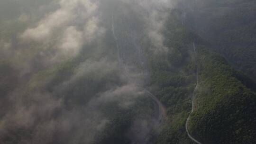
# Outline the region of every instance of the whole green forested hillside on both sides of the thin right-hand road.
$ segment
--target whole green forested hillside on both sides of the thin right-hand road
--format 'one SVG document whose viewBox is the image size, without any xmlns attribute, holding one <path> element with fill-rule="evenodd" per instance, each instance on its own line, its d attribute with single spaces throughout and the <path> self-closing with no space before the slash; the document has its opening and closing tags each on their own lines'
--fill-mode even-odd
<svg viewBox="0 0 256 144">
<path fill-rule="evenodd" d="M 152 86 L 168 110 L 158 144 L 193 143 L 186 134 L 185 122 L 196 83 L 196 61 L 199 86 L 188 122 L 191 135 L 202 144 L 253 144 L 255 83 L 232 69 L 219 54 L 210 52 L 209 43 L 182 25 L 182 15 L 182 11 L 172 11 L 165 31 L 169 52 L 151 61 Z"/>
</svg>

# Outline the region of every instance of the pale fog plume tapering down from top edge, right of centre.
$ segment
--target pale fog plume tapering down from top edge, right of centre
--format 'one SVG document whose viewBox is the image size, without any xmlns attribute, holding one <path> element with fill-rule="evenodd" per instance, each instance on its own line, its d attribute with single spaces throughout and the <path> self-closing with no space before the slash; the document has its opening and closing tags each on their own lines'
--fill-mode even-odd
<svg viewBox="0 0 256 144">
<path fill-rule="evenodd" d="M 176 0 L 121 0 L 131 4 L 146 24 L 146 34 L 154 45 L 155 52 L 166 52 L 168 48 L 164 45 L 165 36 L 163 31 L 165 22 L 169 16 L 170 9 L 176 5 Z"/>
</svg>

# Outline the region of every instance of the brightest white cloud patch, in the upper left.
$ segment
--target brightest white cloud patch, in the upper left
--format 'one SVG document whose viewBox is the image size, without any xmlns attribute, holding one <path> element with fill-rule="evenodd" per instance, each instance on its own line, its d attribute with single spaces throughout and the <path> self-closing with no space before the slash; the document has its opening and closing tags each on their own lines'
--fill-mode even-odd
<svg viewBox="0 0 256 144">
<path fill-rule="evenodd" d="M 50 58 L 52 62 L 76 56 L 82 45 L 91 43 L 105 32 L 99 26 L 98 4 L 95 1 L 57 1 L 58 9 L 42 18 L 36 27 L 27 28 L 19 36 L 23 43 L 36 42 L 43 45 L 42 54 L 48 53 L 46 48 L 55 49 L 55 54 L 51 54 Z M 54 43 L 54 46 L 46 47 L 49 43 Z"/>
</svg>

